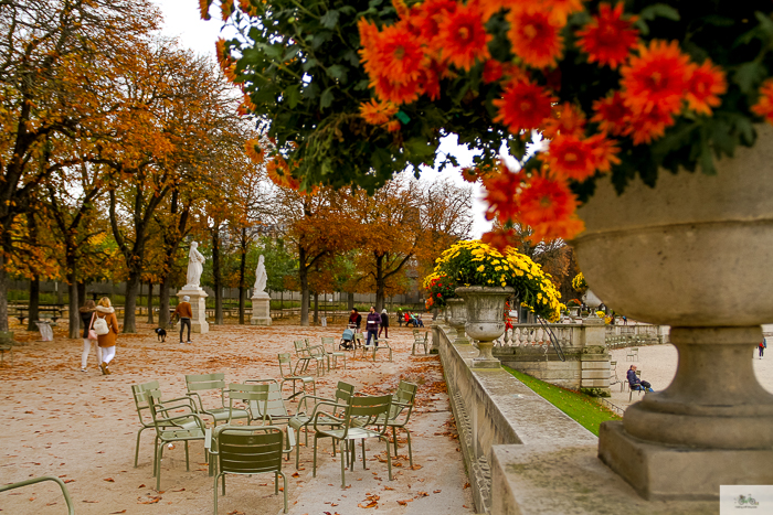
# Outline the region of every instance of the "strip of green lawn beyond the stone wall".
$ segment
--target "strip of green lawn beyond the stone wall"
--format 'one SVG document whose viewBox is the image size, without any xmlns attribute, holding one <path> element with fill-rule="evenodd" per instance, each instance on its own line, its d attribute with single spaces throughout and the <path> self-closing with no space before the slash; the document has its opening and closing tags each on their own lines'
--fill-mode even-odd
<svg viewBox="0 0 773 515">
<path fill-rule="evenodd" d="M 601 422 L 621 419 L 621 417 L 601 406 L 592 397 L 536 379 L 521 372 L 513 371 L 508 366 L 504 368 L 516 376 L 516 378 L 526 386 L 534 390 L 537 395 L 543 397 L 572 419 L 580 422 L 582 427 L 596 437 L 599 436 L 599 426 L 601 426 Z"/>
</svg>

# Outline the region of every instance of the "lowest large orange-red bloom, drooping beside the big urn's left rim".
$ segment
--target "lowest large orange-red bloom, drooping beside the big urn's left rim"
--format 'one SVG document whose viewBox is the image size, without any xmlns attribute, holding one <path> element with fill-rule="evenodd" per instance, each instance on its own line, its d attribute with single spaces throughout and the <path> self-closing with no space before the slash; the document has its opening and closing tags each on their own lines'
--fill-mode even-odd
<svg viewBox="0 0 773 515">
<path fill-rule="evenodd" d="M 518 195 L 518 219 L 536 228 L 568 219 L 576 206 L 576 199 L 565 181 L 534 174 Z"/>
</svg>

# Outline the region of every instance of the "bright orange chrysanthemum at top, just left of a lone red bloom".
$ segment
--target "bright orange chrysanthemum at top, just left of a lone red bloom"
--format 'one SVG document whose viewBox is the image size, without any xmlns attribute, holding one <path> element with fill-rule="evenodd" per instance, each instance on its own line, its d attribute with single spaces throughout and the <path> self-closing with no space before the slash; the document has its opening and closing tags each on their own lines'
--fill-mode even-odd
<svg viewBox="0 0 773 515">
<path fill-rule="evenodd" d="M 563 53 L 562 24 L 547 11 L 511 10 L 507 14 L 507 36 L 512 53 L 536 68 L 555 65 Z"/>
</svg>

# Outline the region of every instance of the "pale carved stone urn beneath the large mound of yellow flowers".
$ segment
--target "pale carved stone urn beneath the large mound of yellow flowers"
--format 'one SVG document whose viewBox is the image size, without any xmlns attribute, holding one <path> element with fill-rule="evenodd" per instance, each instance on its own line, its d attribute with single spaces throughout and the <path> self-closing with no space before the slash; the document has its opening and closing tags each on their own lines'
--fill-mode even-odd
<svg viewBox="0 0 773 515">
<path fill-rule="evenodd" d="M 479 368 L 498 368 L 499 360 L 491 355 L 494 341 L 505 333 L 505 304 L 515 289 L 506 287 L 472 286 L 456 289 L 456 294 L 464 300 L 467 312 L 465 331 L 478 340 L 478 357 L 473 366 Z"/>
</svg>

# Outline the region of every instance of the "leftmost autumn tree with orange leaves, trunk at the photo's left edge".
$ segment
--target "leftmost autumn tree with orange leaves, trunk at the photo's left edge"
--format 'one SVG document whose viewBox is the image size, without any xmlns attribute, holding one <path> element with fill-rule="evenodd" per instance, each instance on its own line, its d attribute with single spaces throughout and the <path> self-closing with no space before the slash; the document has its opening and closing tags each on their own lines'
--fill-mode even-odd
<svg viewBox="0 0 773 515">
<path fill-rule="evenodd" d="M 110 74 L 117 55 L 156 26 L 147 0 L 68 0 L 0 3 L 0 330 L 8 329 L 7 260 L 14 253 L 11 227 L 33 208 L 34 191 L 55 170 L 84 160 L 56 146 L 78 139 L 105 116 L 102 93 L 80 78 Z M 52 159 L 41 162 L 46 147 Z"/>
</svg>

